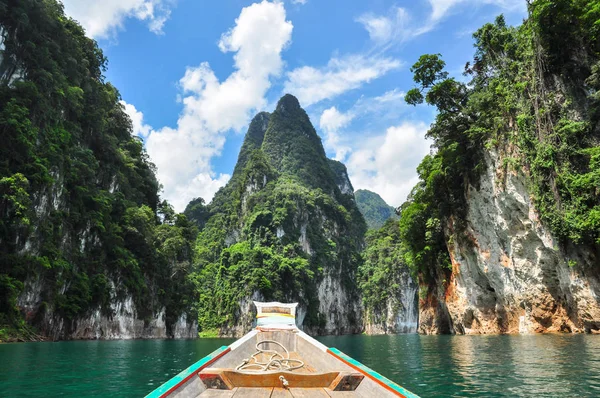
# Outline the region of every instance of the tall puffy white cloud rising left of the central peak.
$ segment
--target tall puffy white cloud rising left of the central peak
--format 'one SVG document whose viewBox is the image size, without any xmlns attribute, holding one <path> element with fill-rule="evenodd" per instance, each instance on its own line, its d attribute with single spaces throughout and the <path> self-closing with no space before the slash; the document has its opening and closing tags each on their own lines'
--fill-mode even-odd
<svg viewBox="0 0 600 398">
<path fill-rule="evenodd" d="M 263 1 L 242 9 L 235 26 L 219 42 L 223 52 L 235 52 L 235 70 L 220 82 L 206 62 L 187 68 L 179 81 L 183 111 L 177 127 L 152 130 L 146 149 L 158 169 L 164 196 L 177 211 L 190 199 L 210 201 L 228 180 L 212 171 L 211 159 L 221 153 L 225 133 L 240 130 L 253 112 L 266 105 L 270 78 L 281 74 L 281 52 L 292 35 L 283 4 Z M 143 125 L 138 113 L 132 114 Z"/>
</svg>

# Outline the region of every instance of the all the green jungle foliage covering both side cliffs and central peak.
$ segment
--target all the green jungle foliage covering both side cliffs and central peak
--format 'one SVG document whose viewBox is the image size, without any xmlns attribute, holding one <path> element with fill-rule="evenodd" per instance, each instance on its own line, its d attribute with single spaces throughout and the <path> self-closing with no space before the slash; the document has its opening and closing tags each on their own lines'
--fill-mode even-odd
<svg viewBox="0 0 600 398">
<path fill-rule="evenodd" d="M 406 101 L 437 108 L 435 150 L 398 221 L 384 223 L 378 197 L 354 201 L 290 95 L 254 118 L 213 201 L 175 214 L 97 44 L 56 0 L 0 0 L 0 340 L 36 338 L 49 320 L 68 336 L 126 297 L 147 321 L 165 308 L 168 326 L 193 310 L 204 332 L 238 324 L 252 297 L 299 301 L 318 331 L 328 275 L 381 310 L 405 267 L 423 285 L 450 271 L 490 153 L 526 177 L 563 247 L 600 251 L 600 3 L 531 1 L 521 26 L 500 16 L 474 39 L 465 79 L 439 54 L 411 68 Z M 359 207 L 383 224 L 366 249 Z M 38 297 L 19 301 L 26 289 Z"/>
</svg>

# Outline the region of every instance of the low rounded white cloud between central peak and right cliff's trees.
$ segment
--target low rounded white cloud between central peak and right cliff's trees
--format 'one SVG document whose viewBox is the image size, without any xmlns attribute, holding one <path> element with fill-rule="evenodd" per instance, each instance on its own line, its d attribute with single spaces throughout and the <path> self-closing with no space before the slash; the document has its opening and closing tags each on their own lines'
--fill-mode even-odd
<svg viewBox="0 0 600 398">
<path fill-rule="evenodd" d="M 418 164 L 430 151 L 427 129 L 422 122 L 403 122 L 358 142 L 346 161 L 354 188 L 377 192 L 392 206 L 402 204 L 418 181 Z"/>
</svg>

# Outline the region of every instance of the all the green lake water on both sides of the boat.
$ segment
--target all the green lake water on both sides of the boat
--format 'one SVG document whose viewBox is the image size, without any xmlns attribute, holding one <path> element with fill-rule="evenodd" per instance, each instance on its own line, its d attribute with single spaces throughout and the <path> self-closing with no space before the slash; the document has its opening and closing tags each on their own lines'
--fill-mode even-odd
<svg viewBox="0 0 600 398">
<path fill-rule="evenodd" d="M 422 397 L 600 397 L 600 336 L 327 336 Z M 231 339 L 0 344 L 0 397 L 137 397 Z"/>
</svg>

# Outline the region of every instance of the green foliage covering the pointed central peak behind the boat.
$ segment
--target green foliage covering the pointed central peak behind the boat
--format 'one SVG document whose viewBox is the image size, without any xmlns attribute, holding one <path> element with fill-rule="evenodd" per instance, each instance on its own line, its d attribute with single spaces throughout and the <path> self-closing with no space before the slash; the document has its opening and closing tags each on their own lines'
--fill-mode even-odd
<svg viewBox="0 0 600 398">
<path fill-rule="evenodd" d="M 239 324 L 240 302 L 299 301 L 304 325 L 318 329 L 316 286 L 342 279 L 359 300 L 356 271 L 366 226 L 352 195 L 341 193 L 306 112 L 284 96 L 251 122 L 229 183 L 209 206 L 192 274 L 200 292 L 199 326 L 219 333 Z M 358 322 L 358 319 L 350 320 Z"/>
</svg>

